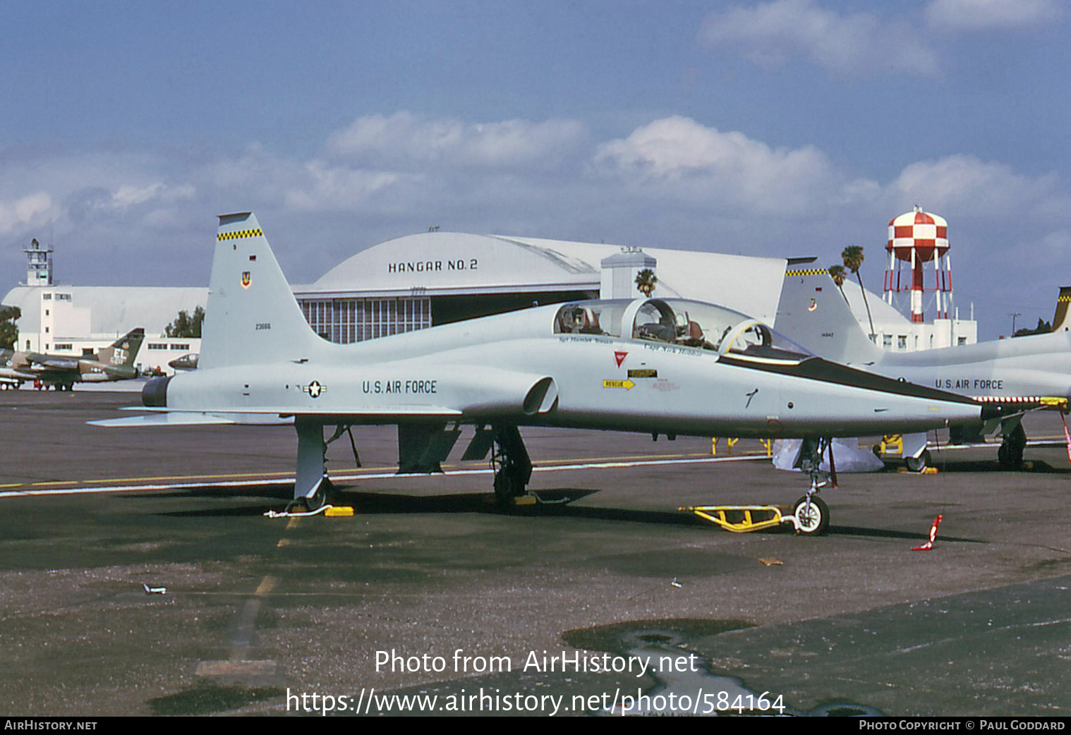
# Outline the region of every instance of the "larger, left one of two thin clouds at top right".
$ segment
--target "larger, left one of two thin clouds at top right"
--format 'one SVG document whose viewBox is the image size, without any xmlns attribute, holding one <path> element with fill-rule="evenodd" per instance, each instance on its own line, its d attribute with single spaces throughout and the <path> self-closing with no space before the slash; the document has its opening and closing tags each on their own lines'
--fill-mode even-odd
<svg viewBox="0 0 1071 735">
<path fill-rule="evenodd" d="M 938 57 L 922 33 L 904 21 L 870 13 L 840 14 L 813 0 L 774 0 L 734 6 L 704 20 L 699 40 L 708 47 L 739 48 L 748 59 L 780 66 L 795 57 L 842 76 L 890 72 L 932 77 Z"/>
</svg>

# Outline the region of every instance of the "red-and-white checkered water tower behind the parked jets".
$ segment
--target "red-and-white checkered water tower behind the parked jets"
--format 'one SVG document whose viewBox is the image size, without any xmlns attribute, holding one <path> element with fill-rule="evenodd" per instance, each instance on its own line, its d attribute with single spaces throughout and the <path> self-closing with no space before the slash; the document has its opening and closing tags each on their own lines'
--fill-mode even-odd
<svg viewBox="0 0 1071 735">
<path fill-rule="evenodd" d="M 883 298 L 893 306 L 901 294 L 910 292 L 911 321 L 921 322 L 926 297 L 936 303 L 938 319 L 947 319 L 952 308 L 952 271 L 948 255 L 948 223 L 923 212 L 905 212 L 889 222 L 889 269 L 885 272 Z M 926 268 L 926 264 L 933 264 Z"/>
</svg>

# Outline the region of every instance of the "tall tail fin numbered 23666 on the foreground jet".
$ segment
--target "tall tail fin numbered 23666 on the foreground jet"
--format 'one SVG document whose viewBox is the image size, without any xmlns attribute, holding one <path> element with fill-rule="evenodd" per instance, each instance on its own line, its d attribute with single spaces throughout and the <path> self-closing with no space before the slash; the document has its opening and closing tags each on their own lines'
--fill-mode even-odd
<svg viewBox="0 0 1071 735">
<path fill-rule="evenodd" d="M 220 215 L 200 368 L 299 360 L 320 338 L 308 326 L 252 212 Z"/>
</svg>

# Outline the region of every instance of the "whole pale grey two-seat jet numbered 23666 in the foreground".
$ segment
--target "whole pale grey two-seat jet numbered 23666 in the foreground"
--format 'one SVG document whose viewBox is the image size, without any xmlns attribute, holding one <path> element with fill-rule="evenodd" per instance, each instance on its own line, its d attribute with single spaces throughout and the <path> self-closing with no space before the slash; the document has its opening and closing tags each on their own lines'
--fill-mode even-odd
<svg viewBox="0 0 1071 735">
<path fill-rule="evenodd" d="M 147 384 L 154 415 L 104 425 L 292 420 L 295 498 L 322 504 L 323 430 L 396 424 L 402 472 L 441 471 L 459 434 L 465 460 L 491 453 L 502 500 L 531 463 L 519 426 L 696 436 L 797 437 L 805 460 L 833 436 L 925 431 L 979 420 L 977 402 L 813 357 L 743 314 L 642 298 L 537 306 L 357 344 L 306 322 L 250 212 L 220 216 L 198 370 Z M 332 439 L 328 439 L 330 442 Z M 804 469 L 817 462 L 802 462 Z M 825 528 L 812 489 L 797 529 Z"/>
</svg>

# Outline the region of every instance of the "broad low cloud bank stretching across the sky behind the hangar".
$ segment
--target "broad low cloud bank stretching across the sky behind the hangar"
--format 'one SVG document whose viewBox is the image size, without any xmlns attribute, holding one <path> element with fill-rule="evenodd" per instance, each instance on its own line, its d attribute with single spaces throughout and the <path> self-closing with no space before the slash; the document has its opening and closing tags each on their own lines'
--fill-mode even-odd
<svg viewBox="0 0 1071 735">
<path fill-rule="evenodd" d="M 1049 237 L 1050 249 L 1062 251 L 1071 231 L 1071 196 L 1059 177 L 1004 162 L 949 155 L 907 163 L 879 181 L 816 146 L 771 145 L 687 117 L 651 120 L 601 142 L 583 130 L 397 114 L 356 121 L 311 159 L 259 145 L 197 158 L 172 150 L 9 155 L 0 167 L 0 234 L 22 242 L 55 235 L 63 272 L 82 283 L 115 282 L 116 269 L 133 264 L 126 282 L 200 283 L 208 254 L 191 257 L 191 249 L 210 248 L 213 214 L 248 208 L 275 234 L 273 244 L 290 258 L 287 275 L 301 283 L 357 248 L 433 224 L 771 256 L 880 241 L 885 223 L 914 204 L 948 218 L 964 241 Z M 560 156 L 557 168 L 524 164 L 548 151 Z M 18 255 L 0 258 L 20 267 Z"/>
</svg>

